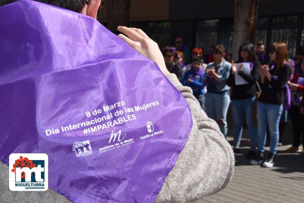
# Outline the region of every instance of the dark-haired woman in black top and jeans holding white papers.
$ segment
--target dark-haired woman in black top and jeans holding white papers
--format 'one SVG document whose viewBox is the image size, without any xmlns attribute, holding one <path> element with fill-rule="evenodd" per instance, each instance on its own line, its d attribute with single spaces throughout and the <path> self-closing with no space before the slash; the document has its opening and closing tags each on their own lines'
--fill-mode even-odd
<svg viewBox="0 0 304 203">
<path fill-rule="evenodd" d="M 245 42 L 239 49 L 239 60 L 237 63 L 241 65 L 239 68 L 236 64 L 232 64 L 231 75 L 227 79 L 227 85 L 233 87 L 231 95 L 231 107 L 233 114 L 233 136 L 234 136 L 234 152 L 240 153 L 240 142 L 243 133 L 243 119 L 245 115 L 246 124 L 250 136 L 250 151 L 246 154 L 246 158 L 255 157 L 256 147 L 256 127 L 253 122 L 253 107 L 256 97 L 256 82 L 259 78 L 260 62 L 254 53 L 254 46 L 250 42 Z M 249 63 L 250 74 L 243 71 L 242 63 Z M 241 76 L 245 83 L 236 83 L 236 77 Z"/>
</svg>

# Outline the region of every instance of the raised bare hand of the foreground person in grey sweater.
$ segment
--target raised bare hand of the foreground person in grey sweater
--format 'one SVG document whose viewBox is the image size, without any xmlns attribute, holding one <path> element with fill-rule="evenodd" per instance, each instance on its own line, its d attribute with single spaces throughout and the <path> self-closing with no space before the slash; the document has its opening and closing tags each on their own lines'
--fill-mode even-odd
<svg viewBox="0 0 304 203">
<path fill-rule="evenodd" d="M 118 31 L 123 34 L 118 36 L 140 54 L 156 62 L 161 71 L 168 75 L 165 60 L 158 44 L 148 37 L 141 29 L 119 26 Z"/>
</svg>

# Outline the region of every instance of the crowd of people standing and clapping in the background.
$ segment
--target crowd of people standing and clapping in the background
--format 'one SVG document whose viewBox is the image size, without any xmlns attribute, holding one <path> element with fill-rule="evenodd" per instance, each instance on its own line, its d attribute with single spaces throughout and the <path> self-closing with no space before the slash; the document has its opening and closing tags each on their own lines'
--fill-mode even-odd
<svg viewBox="0 0 304 203">
<path fill-rule="evenodd" d="M 182 37 L 177 37 L 175 46 L 165 47 L 163 55 L 167 69 L 177 75 L 182 85 L 192 88 L 202 109 L 217 122 L 225 137 L 231 105 L 234 152 L 240 153 L 245 126 L 250 137 L 245 157 L 250 164 L 274 166 L 288 117 L 293 143 L 287 151 L 304 154 L 304 146 L 300 149 L 300 142 L 304 143 L 304 46 L 292 60 L 283 42 L 274 43 L 269 54 L 265 54 L 263 42 L 255 46 L 244 42 L 234 62 L 222 45 L 210 46 L 208 54 L 201 48 L 190 52 Z M 266 157 L 267 144 L 270 152 Z"/>
</svg>

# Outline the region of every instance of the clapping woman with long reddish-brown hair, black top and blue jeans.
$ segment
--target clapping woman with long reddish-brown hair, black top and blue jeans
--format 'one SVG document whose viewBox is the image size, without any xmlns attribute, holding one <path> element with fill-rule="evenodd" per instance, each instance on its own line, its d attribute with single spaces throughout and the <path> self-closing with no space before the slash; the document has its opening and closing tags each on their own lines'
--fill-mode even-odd
<svg viewBox="0 0 304 203">
<path fill-rule="evenodd" d="M 285 100 L 285 85 L 289 77 L 288 50 L 285 43 L 274 43 L 270 48 L 270 65 L 259 68 L 261 95 L 257 102 L 257 141 L 258 153 L 250 161 L 253 165 L 271 168 L 279 143 L 279 122 Z M 264 160 L 264 147 L 267 127 L 270 132 L 270 153 Z"/>
</svg>

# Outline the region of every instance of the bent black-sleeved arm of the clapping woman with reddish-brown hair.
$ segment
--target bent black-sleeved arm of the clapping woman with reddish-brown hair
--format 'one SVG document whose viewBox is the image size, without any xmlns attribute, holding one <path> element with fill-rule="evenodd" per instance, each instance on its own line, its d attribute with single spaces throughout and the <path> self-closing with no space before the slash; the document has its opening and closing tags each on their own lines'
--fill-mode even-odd
<svg viewBox="0 0 304 203">
<path fill-rule="evenodd" d="M 270 72 L 268 72 L 265 79 L 269 81 L 269 84 L 273 87 L 274 90 L 281 91 L 283 90 L 285 84 L 288 81 L 288 76 L 289 76 L 289 67 L 288 65 L 284 65 L 284 67 L 282 67 L 282 70 L 278 75 L 278 79 L 273 78 Z"/>
</svg>

